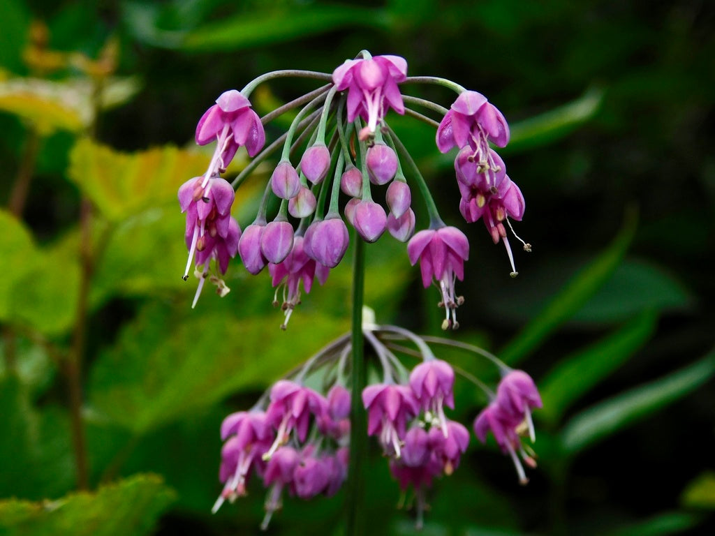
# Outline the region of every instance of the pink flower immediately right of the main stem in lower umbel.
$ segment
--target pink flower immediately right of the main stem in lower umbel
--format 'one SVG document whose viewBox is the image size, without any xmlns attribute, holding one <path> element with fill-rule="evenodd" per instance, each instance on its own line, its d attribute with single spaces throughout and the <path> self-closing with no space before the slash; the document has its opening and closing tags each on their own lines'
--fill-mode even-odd
<svg viewBox="0 0 715 536">
<path fill-rule="evenodd" d="M 400 442 L 408 420 L 420 411 L 412 389 L 399 384 L 374 384 L 363 389 L 368 410 L 368 435 L 379 435 L 386 455 L 400 457 Z"/>
</svg>

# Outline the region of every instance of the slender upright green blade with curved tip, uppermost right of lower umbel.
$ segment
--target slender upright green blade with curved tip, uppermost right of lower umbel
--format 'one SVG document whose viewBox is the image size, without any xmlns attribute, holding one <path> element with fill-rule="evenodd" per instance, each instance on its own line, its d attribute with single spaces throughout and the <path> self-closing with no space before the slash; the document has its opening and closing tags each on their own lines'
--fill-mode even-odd
<svg viewBox="0 0 715 536">
<path fill-rule="evenodd" d="M 581 309 L 618 267 L 635 231 L 636 217 L 628 213 L 623 229 L 611 245 L 578 272 L 536 318 L 514 337 L 500 352 L 501 359 L 508 364 L 516 364 Z"/>
</svg>

